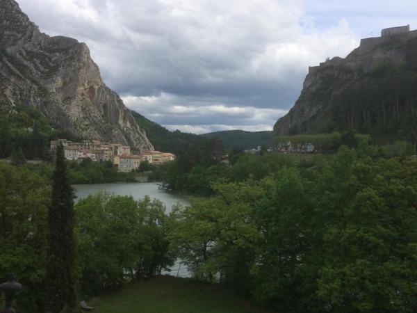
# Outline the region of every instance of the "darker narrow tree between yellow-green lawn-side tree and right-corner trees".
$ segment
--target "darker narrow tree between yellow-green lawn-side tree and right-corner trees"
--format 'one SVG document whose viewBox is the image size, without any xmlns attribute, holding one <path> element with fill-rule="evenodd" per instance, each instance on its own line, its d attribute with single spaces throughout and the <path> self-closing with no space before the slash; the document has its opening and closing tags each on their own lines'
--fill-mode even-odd
<svg viewBox="0 0 417 313">
<path fill-rule="evenodd" d="M 283 168 L 261 201 L 256 218 L 264 241 L 252 268 L 254 297 L 285 312 L 302 312 L 309 280 L 303 277 L 311 241 L 313 217 L 309 184 L 300 171 Z M 305 308 L 304 308 L 305 309 Z"/>
</svg>

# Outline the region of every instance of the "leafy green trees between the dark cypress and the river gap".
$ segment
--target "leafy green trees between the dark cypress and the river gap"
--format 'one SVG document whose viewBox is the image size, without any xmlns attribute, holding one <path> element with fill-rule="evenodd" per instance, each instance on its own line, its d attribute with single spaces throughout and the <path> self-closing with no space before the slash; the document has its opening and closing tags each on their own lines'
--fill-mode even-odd
<svg viewBox="0 0 417 313">
<path fill-rule="evenodd" d="M 83 294 L 152 277 L 173 262 L 167 251 L 165 207 L 158 200 L 136 202 L 98 193 L 76 204 L 76 216 Z"/>
</svg>

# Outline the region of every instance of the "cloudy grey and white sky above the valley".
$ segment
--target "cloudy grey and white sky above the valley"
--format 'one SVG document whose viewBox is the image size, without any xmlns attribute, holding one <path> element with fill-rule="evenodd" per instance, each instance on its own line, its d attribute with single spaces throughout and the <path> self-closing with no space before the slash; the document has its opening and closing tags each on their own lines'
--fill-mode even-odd
<svg viewBox="0 0 417 313">
<path fill-rule="evenodd" d="M 86 42 L 130 109 L 198 134 L 272 129 L 309 65 L 417 26 L 416 0 L 17 1 L 44 33 Z"/>
</svg>

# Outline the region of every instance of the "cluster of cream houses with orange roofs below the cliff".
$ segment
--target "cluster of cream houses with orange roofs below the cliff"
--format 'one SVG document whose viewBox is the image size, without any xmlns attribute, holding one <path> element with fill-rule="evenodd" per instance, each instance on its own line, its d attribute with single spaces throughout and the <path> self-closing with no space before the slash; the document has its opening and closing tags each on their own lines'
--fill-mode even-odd
<svg viewBox="0 0 417 313">
<path fill-rule="evenodd" d="M 160 151 L 145 151 L 140 154 L 131 154 L 129 145 L 120 143 L 101 143 L 101 141 L 81 141 L 74 143 L 66 139 L 51 141 L 51 151 L 56 150 L 59 143 L 63 144 L 65 159 L 81 161 L 91 159 L 92 161 L 111 161 L 120 172 L 130 172 L 139 168 L 140 163 L 148 161 L 154 165 L 173 161 L 175 154 Z"/>
</svg>

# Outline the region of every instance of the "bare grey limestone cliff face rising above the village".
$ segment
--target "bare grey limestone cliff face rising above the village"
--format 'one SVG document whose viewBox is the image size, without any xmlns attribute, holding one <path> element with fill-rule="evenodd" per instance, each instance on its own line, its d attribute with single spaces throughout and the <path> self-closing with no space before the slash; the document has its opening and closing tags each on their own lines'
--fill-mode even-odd
<svg viewBox="0 0 417 313">
<path fill-rule="evenodd" d="M 13 0 L 0 0 L 0 105 L 38 108 L 76 136 L 152 150 L 84 43 L 41 33 Z"/>
</svg>

